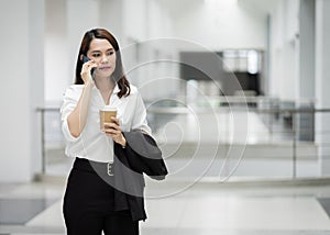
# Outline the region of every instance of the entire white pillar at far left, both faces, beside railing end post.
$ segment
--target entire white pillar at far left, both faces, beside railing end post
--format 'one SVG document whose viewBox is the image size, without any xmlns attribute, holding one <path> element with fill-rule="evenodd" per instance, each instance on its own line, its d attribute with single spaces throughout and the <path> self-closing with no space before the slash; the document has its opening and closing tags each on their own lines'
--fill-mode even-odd
<svg viewBox="0 0 330 235">
<path fill-rule="evenodd" d="M 30 181 L 36 167 L 34 160 L 40 156 L 35 108 L 43 104 L 43 23 L 38 21 L 43 21 L 44 12 L 42 0 L 38 5 L 34 3 L 0 2 L 1 182 Z M 8 23 L 12 19 L 14 26 Z"/>
</svg>

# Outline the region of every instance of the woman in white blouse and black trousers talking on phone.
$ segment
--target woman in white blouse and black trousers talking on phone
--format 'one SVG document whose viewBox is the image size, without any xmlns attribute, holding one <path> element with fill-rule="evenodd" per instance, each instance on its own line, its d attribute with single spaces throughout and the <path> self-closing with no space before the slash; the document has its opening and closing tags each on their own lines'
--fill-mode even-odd
<svg viewBox="0 0 330 235">
<path fill-rule="evenodd" d="M 114 107 L 117 118 L 100 128 L 99 110 L 105 105 Z M 67 234 L 139 234 L 139 220 L 145 217 L 132 217 L 131 199 L 122 197 L 120 206 L 116 202 L 113 146 L 127 147 L 123 132 L 151 134 L 151 128 L 143 100 L 123 74 L 118 42 L 107 30 L 84 35 L 76 81 L 66 90 L 61 112 L 66 155 L 75 157 L 63 205 Z"/>
</svg>

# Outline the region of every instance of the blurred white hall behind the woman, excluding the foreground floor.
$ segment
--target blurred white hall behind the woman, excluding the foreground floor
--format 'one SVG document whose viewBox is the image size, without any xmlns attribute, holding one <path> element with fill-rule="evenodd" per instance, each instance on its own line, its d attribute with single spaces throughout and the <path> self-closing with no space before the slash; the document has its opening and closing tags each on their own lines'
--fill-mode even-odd
<svg viewBox="0 0 330 235">
<path fill-rule="evenodd" d="M 106 27 L 169 181 L 327 184 L 329 12 L 329 0 L 1 0 L 0 183 L 66 179 L 62 97 L 84 33 Z"/>
</svg>

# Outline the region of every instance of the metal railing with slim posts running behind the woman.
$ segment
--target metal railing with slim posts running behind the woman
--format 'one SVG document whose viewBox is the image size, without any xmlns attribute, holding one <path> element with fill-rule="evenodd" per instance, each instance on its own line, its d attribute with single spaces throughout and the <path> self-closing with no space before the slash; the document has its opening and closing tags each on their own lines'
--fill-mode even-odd
<svg viewBox="0 0 330 235">
<path fill-rule="evenodd" d="M 228 99 L 227 99 L 228 101 Z M 299 108 L 299 109 L 295 109 L 295 108 L 288 108 L 288 109 L 283 109 L 283 108 L 258 108 L 257 105 L 251 105 L 251 107 L 240 107 L 240 105 L 235 105 L 235 104 L 240 104 L 242 100 L 235 100 L 235 102 L 232 102 L 230 104 L 230 107 L 227 105 L 222 105 L 222 107 L 217 107 L 217 108 L 212 108 L 212 112 L 216 112 L 218 114 L 223 114 L 223 113 L 229 113 L 229 112 L 234 112 L 234 111 L 246 111 L 248 112 L 252 112 L 258 115 L 258 118 L 263 121 L 263 123 L 267 126 L 268 132 L 270 132 L 270 136 L 271 139 L 274 138 L 274 136 L 277 134 L 280 135 L 282 134 L 286 134 L 286 141 L 290 141 L 292 143 L 292 164 L 293 164 L 293 169 L 292 169 L 292 178 L 295 179 L 297 178 L 297 147 L 298 147 L 298 143 L 301 142 L 300 139 L 300 135 L 304 132 L 311 132 L 312 138 L 308 139 L 307 142 L 309 143 L 316 143 L 315 142 L 315 136 L 317 135 L 328 135 L 328 133 L 330 132 L 329 130 L 302 130 L 301 126 L 299 126 L 299 122 L 301 121 L 301 115 L 302 114 L 308 114 L 310 118 L 310 122 L 309 126 L 312 126 L 312 128 L 315 128 L 315 119 L 317 114 L 330 114 L 330 109 L 315 109 L 315 108 Z M 250 102 L 255 102 L 255 100 L 250 100 Z M 53 113 L 53 114 L 58 114 L 59 113 L 59 108 L 38 108 L 36 110 L 40 114 L 41 114 L 41 139 L 42 139 L 42 174 L 47 174 L 47 167 L 46 167 L 46 152 L 47 152 L 47 142 L 48 139 L 46 138 L 46 114 L 47 113 Z M 195 112 L 199 112 L 199 113 L 209 113 L 210 109 L 209 108 L 197 108 L 195 109 Z M 150 120 L 150 124 L 153 128 L 153 131 L 157 131 L 161 127 L 164 126 L 164 123 L 168 122 L 172 118 L 170 116 L 175 116 L 175 115 L 186 115 L 189 113 L 189 111 L 184 108 L 184 107 L 151 107 L 147 109 L 147 113 L 148 113 L 148 120 Z M 58 114 L 59 116 L 59 114 Z M 157 121 L 157 118 L 164 118 L 165 121 L 163 120 L 163 122 Z M 169 118 L 168 118 L 169 116 Z M 167 121 L 166 121 L 167 120 Z M 61 121 L 59 119 L 58 121 L 58 125 L 57 127 L 59 127 L 58 133 L 61 133 Z M 158 122 L 158 123 L 157 123 Z M 284 130 L 276 130 L 276 123 L 278 124 L 278 122 L 285 123 L 287 122 L 285 125 Z M 278 127 L 278 126 L 277 126 Z M 309 133 L 310 134 L 310 133 Z M 267 139 L 265 141 L 267 142 Z M 270 141 L 274 143 L 274 141 Z M 276 141 L 275 141 L 276 142 Z M 302 142 L 306 142 L 302 139 Z M 63 146 L 64 147 L 64 141 L 63 141 Z M 249 144 L 249 143 L 248 143 Z M 326 147 L 328 144 L 330 143 L 322 143 L 321 145 L 323 145 L 323 147 Z M 317 157 L 317 156 L 316 156 Z"/>
</svg>

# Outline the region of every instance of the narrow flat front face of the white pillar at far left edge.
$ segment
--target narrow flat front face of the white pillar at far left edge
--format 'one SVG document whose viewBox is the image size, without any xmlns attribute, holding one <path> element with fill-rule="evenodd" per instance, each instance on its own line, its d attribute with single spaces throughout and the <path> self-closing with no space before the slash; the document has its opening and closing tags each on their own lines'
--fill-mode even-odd
<svg viewBox="0 0 330 235">
<path fill-rule="evenodd" d="M 13 181 L 30 179 L 31 142 L 30 137 L 30 92 L 29 92 L 29 2 L 1 1 L 0 20 L 20 19 L 13 27 L 2 24 L 1 32 L 6 33 L 1 40 L 0 58 L 2 69 L 1 110 L 8 115 L 1 115 L 1 157 L 0 180 Z M 20 4 L 18 9 L 14 4 Z M 20 108 L 20 110 L 18 109 Z M 23 115 L 22 115 L 23 114 Z M 24 118 L 23 118 L 24 116 Z M 6 137 L 4 137 L 6 136 Z M 26 156 L 28 155 L 28 156 Z M 25 156 L 25 159 L 22 159 Z M 22 161 L 20 161 L 22 160 Z M 13 172 L 14 171 L 14 172 Z M 19 176 L 20 172 L 21 176 Z"/>
</svg>

